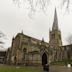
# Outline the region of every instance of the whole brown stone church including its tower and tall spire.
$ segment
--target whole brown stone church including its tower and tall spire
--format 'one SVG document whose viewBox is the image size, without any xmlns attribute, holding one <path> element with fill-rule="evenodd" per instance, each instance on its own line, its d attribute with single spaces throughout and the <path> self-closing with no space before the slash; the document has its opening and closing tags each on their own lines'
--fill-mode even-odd
<svg viewBox="0 0 72 72">
<path fill-rule="evenodd" d="M 52 29 L 49 31 L 49 43 L 44 39 L 18 33 L 12 39 L 12 45 L 7 50 L 6 62 L 13 65 L 43 65 L 53 61 L 72 60 L 70 51 L 72 45 L 62 45 L 61 31 L 58 27 L 55 9 Z"/>
</svg>

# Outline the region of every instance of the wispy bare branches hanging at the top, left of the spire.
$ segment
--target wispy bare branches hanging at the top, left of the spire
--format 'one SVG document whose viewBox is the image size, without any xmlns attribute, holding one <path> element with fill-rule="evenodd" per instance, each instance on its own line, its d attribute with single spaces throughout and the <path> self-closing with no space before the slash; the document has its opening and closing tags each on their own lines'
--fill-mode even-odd
<svg viewBox="0 0 72 72">
<path fill-rule="evenodd" d="M 28 3 L 29 10 L 30 10 L 29 14 L 34 14 L 37 11 L 37 9 L 40 9 L 43 12 L 45 12 L 49 4 L 49 1 L 50 0 L 13 0 L 14 4 L 18 5 L 19 8 L 22 3 L 24 4 Z"/>
</svg>

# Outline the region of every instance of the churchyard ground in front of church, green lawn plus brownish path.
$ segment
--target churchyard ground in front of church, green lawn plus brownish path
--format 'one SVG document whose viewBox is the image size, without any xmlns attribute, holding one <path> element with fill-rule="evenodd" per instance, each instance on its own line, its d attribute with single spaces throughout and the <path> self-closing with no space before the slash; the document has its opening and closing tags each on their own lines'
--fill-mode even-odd
<svg viewBox="0 0 72 72">
<path fill-rule="evenodd" d="M 42 67 L 0 65 L 0 72 L 44 72 Z M 72 72 L 72 67 L 65 65 L 50 65 L 49 72 Z"/>
</svg>

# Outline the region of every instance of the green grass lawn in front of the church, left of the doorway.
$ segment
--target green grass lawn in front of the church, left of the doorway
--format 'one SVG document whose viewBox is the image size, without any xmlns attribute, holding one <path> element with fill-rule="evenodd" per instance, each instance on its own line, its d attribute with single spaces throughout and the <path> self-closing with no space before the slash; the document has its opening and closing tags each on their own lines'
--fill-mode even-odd
<svg viewBox="0 0 72 72">
<path fill-rule="evenodd" d="M 41 67 L 16 67 L 0 65 L 0 72 L 43 72 Z"/>
</svg>

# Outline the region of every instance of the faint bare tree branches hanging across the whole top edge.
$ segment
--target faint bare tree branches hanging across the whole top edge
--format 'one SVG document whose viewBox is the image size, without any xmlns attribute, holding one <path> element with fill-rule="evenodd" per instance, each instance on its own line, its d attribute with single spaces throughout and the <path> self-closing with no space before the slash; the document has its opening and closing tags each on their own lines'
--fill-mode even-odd
<svg viewBox="0 0 72 72">
<path fill-rule="evenodd" d="M 55 0 L 56 2 L 58 0 Z M 45 11 L 49 5 L 49 3 L 52 3 L 52 0 L 13 0 L 13 3 L 18 5 L 20 7 L 22 4 L 25 6 L 29 6 L 29 9 L 31 12 L 35 12 L 37 8 L 40 7 L 40 10 Z M 69 9 L 71 6 L 72 0 L 59 0 L 61 6 L 66 6 L 66 9 Z"/>
</svg>

